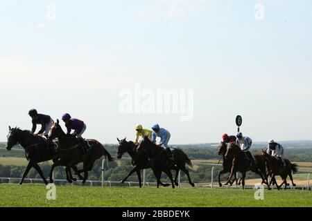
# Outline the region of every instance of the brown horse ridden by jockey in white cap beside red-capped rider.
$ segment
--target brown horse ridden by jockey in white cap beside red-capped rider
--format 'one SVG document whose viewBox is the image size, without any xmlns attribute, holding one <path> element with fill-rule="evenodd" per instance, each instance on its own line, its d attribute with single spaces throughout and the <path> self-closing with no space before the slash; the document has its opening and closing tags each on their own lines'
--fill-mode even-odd
<svg viewBox="0 0 312 221">
<path fill-rule="evenodd" d="M 268 184 L 268 177 L 266 175 L 266 159 L 263 156 L 254 155 L 254 158 L 256 159 L 256 164 L 250 166 L 250 160 L 245 157 L 245 153 L 241 151 L 241 148 L 234 143 L 231 143 L 227 146 L 227 153 L 225 154 L 225 157 L 227 157 L 227 155 L 233 155 L 234 157 L 232 162 L 231 175 L 229 175 L 229 180 L 227 180 L 227 184 L 231 182 L 231 179 L 236 172 L 241 172 L 241 184 L 243 186 L 243 189 L 245 189 L 245 177 L 246 172 L 248 171 L 257 173 L 261 177 L 262 183 Z M 268 186 L 268 189 L 270 189 L 270 186 Z"/>
</svg>

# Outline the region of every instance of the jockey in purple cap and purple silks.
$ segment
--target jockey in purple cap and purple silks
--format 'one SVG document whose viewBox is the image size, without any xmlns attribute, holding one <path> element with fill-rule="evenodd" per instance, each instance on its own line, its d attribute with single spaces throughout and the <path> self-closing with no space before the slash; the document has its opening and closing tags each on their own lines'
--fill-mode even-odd
<svg viewBox="0 0 312 221">
<path fill-rule="evenodd" d="M 62 115 L 62 120 L 65 122 L 65 126 L 67 128 L 67 134 L 71 134 L 71 130 L 74 130 L 72 135 L 76 136 L 79 142 L 83 142 L 83 133 L 85 133 L 85 129 L 87 126 L 83 121 L 76 118 L 71 118 L 71 115 L 68 113 L 64 113 Z"/>
</svg>

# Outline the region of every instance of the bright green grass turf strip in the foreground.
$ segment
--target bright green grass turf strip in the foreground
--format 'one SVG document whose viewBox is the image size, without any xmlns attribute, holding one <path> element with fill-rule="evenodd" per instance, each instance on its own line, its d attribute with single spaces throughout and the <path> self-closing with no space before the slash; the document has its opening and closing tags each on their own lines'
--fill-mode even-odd
<svg viewBox="0 0 312 221">
<path fill-rule="evenodd" d="M 46 200 L 40 184 L 0 184 L 0 206 L 104 206 L 104 207 L 211 207 L 211 206 L 312 206 L 311 191 L 265 191 L 254 200 L 254 190 L 153 187 L 101 188 L 57 186 L 57 199 Z"/>
</svg>

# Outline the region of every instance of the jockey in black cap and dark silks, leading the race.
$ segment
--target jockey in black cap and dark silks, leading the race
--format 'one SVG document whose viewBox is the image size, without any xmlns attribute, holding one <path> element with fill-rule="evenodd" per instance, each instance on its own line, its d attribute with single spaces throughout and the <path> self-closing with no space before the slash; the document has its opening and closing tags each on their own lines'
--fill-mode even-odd
<svg viewBox="0 0 312 221">
<path fill-rule="evenodd" d="M 37 110 L 32 109 L 28 112 L 28 115 L 31 116 L 33 128 L 31 129 L 32 133 L 35 133 L 37 124 L 41 124 L 41 129 L 37 133 L 37 135 L 44 135 L 44 137 L 48 138 L 49 131 L 53 126 L 53 119 L 49 115 L 42 115 L 37 113 Z"/>
</svg>

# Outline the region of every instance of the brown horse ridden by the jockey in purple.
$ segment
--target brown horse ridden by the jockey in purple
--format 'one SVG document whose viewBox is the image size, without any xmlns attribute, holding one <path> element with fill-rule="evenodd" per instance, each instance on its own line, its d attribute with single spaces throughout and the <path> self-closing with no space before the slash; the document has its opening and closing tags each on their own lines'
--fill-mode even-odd
<svg viewBox="0 0 312 221">
<path fill-rule="evenodd" d="M 65 171 L 67 181 L 72 182 L 71 167 L 83 162 L 83 170 L 78 171 L 78 173 L 84 173 L 83 185 L 85 185 L 88 172 L 92 171 L 96 160 L 100 159 L 104 155 L 109 161 L 112 161 L 110 153 L 108 153 L 104 146 L 96 140 L 87 140 L 89 144 L 91 144 L 91 147 L 87 153 L 83 153 L 83 151 L 79 148 L 80 144 L 78 139 L 72 135 L 65 134 L 60 126 L 59 120 L 53 124 L 49 133 L 49 139 L 53 139 L 55 137 L 57 137 L 60 142 L 60 160 L 52 165 L 50 182 L 53 182 L 52 174 L 55 166 L 66 166 Z"/>
</svg>

